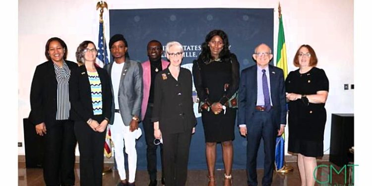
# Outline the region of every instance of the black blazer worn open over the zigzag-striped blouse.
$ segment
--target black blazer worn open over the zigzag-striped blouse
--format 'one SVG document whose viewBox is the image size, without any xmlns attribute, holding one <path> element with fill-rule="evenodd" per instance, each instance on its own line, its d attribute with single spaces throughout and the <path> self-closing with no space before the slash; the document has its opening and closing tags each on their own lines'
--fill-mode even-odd
<svg viewBox="0 0 372 186">
<path fill-rule="evenodd" d="M 110 77 L 105 69 L 100 67 L 96 67 L 96 69 L 102 86 L 102 116 L 103 119 L 110 119 L 113 99 L 110 88 Z M 85 65 L 72 70 L 68 86 L 71 103 L 71 120 L 86 122 L 89 118 L 93 118 L 92 95 Z"/>
</svg>

